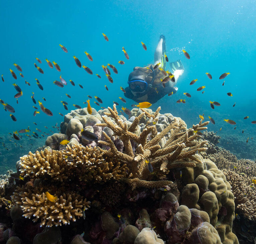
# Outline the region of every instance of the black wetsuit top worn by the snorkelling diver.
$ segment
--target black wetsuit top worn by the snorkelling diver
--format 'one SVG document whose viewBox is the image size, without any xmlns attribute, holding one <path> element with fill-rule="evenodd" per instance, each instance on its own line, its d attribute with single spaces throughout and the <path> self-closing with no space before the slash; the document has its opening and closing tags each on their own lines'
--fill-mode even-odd
<svg viewBox="0 0 256 244">
<path fill-rule="evenodd" d="M 164 88 L 161 83 L 158 86 L 152 86 L 151 88 L 148 88 L 144 93 L 139 94 L 139 97 L 136 97 L 132 94 L 129 86 L 125 88 L 125 91 L 125 97 L 130 98 L 138 103 L 150 102 L 151 104 L 156 103 L 159 99 L 172 91 L 173 94 L 176 93 L 176 90 L 173 87 L 168 86 Z"/>
</svg>

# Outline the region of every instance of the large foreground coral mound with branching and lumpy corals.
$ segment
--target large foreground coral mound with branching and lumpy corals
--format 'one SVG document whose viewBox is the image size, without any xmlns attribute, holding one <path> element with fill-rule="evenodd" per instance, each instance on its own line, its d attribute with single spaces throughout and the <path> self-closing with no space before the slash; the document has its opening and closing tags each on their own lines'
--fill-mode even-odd
<svg viewBox="0 0 256 244">
<path fill-rule="evenodd" d="M 65 115 L 63 135 L 49 136 L 44 150 L 17 162 L 24 181 L 17 180 L 11 197 L 13 229 L 23 223 L 33 230 L 32 237 L 18 237 L 27 243 L 51 236 L 49 243 L 237 244 L 231 186 L 218 159 L 202 157 L 208 142 L 197 132 L 209 121 L 187 129 L 182 119 L 159 111 L 134 108 L 127 120 L 114 105 Z M 82 129 L 99 140 L 82 138 Z M 63 138 L 67 146 L 59 145 Z M 12 227 L 3 223 L 3 230 Z"/>
</svg>

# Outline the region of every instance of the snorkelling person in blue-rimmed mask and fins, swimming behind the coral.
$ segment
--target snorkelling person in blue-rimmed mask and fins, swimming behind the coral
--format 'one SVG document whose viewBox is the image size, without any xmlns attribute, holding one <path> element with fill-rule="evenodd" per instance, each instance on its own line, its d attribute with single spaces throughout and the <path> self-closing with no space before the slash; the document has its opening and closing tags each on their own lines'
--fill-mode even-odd
<svg viewBox="0 0 256 244">
<path fill-rule="evenodd" d="M 170 63 L 172 77 L 168 82 L 162 80 L 168 76 L 165 73 L 166 66 L 165 37 L 160 35 L 154 54 L 154 64 L 146 67 L 134 67 L 128 77 L 128 87 L 125 88 L 124 95 L 136 102 L 157 102 L 166 94 L 174 94 L 178 88 L 175 87 L 177 79 L 184 72 L 184 67 L 180 60 Z M 159 64 L 160 63 L 160 64 Z M 155 65 L 159 64 L 158 68 Z"/>
</svg>

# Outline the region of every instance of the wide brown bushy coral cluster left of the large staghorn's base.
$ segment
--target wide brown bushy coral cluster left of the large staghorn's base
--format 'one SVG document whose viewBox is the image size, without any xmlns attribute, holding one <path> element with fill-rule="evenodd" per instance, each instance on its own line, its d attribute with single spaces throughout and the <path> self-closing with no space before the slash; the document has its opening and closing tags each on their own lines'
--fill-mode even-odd
<svg viewBox="0 0 256 244">
<path fill-rule="evenodd" d="M 103 156 L 100 148 L 82 145 L 67 146 L 65 150 L 31 152 L 20 158 L 21 176 L 29 178 L 50 177 L 55 181 L 79 179 L 96 182 L 110 179 L 119 180 L 127 175 L 127 167 L 114 159 Z"/>
</svg>

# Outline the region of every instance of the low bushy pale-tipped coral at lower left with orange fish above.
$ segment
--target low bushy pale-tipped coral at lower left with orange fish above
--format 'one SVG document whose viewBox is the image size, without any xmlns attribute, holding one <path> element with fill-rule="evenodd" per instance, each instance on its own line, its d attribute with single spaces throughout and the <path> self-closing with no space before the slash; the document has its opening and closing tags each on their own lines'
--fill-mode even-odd
<svg viewBox="0 0 256 244">
<path fill-rule="evenodd" d="M 46 198 L 45 192 L 48 190 L 57 196 L 55 202 Z M 76 192 L 68 192 L 63 188 L 57 190 L 55 187 L 50 187 L 48 190 L 45 186 L 44 188 L 28 185 L 17 187 L 12 201 L 21 207 L 25 218 L 34 217 L 33 222 L 40 219 L 41 226 L 47 227 L 70 224 L 70 221 L 76 221 L 76 217 L 83 216 L 83 208 L 89 208 L 90 202 Z"/>
</svg>

